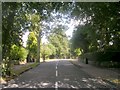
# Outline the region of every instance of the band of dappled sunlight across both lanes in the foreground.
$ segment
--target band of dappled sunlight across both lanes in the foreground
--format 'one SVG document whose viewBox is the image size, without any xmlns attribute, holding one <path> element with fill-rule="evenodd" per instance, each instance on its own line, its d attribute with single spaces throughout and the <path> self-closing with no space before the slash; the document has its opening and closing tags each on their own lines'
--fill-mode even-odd
<svg viewBox="0 0 120 90">
<path fill-rule="evenodd" d="M 111 86 L 97 78 L 61 78 L 58 82 L 58 88 L 110 88 Z M 4 88 L 55 88 L 55 82 L 52 81 L 26 81 L 26 82 L 15 82 L 14 80 L 9 81 L 7 86 Z M 114 87 L 113 87 L 114 88 Z"/>
</svg>

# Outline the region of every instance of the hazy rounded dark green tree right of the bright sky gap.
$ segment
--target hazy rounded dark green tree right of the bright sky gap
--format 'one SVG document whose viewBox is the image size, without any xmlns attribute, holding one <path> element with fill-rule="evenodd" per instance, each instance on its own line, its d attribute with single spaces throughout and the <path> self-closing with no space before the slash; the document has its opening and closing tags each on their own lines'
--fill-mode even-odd
<svg viewBox="0 0 120 90">
<path fill-rule="evenodd" d="M 77 30 L 73 32 L 73 37 L 71 39 L 72 48 L 80 48 L 83 50 L 82 53 L 88 52 L 90 38 L 88 37 L 88 26 L 77 27 Z"/>
</svg>

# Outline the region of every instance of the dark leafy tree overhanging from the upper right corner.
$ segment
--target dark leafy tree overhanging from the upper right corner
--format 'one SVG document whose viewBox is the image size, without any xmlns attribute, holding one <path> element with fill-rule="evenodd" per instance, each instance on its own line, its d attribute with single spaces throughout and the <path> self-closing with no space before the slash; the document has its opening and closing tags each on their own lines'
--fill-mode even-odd
<svg viewBox="0 0 120 90">
<path fill-rule="evenodd" d="M 119 3 L 75 3 L 71 15 L 75 15 L 84 24 L 89 24 L 95 32 L 94 44 L 98 43 L 99 50 L 105 50 L 110 43 L 119 50 Z M 80 13 L 78 13 L 80 12 Z M 96 39 L 96 40 L 95 40 Z M 116 49 L 116 50 L 117 50 Z"/>
</svg>

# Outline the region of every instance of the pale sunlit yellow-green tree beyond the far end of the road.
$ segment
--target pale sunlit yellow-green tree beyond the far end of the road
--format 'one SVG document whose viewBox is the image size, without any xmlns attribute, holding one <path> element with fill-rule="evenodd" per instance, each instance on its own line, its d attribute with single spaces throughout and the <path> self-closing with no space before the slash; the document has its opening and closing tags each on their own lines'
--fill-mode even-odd
<svg viewBox="0 0 120 90">
<path fill-rule="evenodd" d="M 54 33 L 49 35 L 48 41 L 55 47 L 56 56 L 58 58 L 65 58 L 69 54 L 68 38 L 64 30 L 59 27 L 55 28 L 53 31 Z"/>
</svg>

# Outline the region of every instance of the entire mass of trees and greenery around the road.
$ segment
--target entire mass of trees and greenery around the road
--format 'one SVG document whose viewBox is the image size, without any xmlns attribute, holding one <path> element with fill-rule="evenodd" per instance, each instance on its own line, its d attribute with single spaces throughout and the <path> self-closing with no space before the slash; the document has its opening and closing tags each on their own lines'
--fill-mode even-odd
<svg viewBox="0 0 120 90">
<path fill-rule="evenodd" d="M 117 2 L 2 2 L 3 77 L 12 75 L 16 61 L 40 63 L 41 57 L 80 57 L 101 66 L 120 66 L 119 16 Z M 72 20 L 78 25 L 69 40 L 64 22 Z M 27 31 L 27 47 L 23 47 L 22 36 Z M 48 42 L 43 44 L 44 36 Z"/>
</svg>

